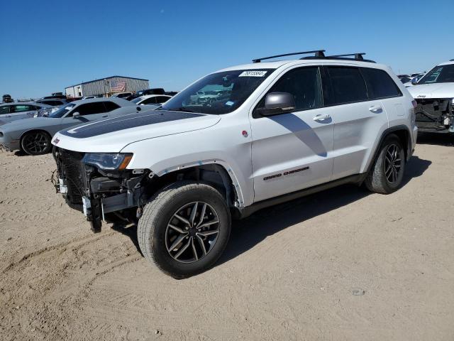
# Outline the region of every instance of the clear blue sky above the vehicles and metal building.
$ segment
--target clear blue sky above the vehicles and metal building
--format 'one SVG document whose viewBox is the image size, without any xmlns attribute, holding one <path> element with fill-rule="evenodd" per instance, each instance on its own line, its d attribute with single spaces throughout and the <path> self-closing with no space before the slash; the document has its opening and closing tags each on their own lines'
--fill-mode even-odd
<svg viewBox="0 0 454 341">
<path fill-rule="evenodd" d="M 394 72 L 454 58 L 454 1 L 6 1 L 0 95 L 42 97 L 110 75 L 182 90 L 278 53 L 366 52 Z M 7 13 L 7 15 L 5 15 Z"/>
</svg>

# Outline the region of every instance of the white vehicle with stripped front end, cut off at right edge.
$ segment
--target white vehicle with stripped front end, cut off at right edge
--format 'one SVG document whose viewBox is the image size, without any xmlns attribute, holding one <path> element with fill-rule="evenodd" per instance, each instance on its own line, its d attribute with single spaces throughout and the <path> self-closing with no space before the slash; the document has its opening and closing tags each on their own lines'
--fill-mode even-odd
<svg viewBox="0 0 454 341">
<path fill-rule="evenodd" d="M 420 131 L 454 133 L 454 59 L 433 67 L 409 92 Z"/>
</svg>

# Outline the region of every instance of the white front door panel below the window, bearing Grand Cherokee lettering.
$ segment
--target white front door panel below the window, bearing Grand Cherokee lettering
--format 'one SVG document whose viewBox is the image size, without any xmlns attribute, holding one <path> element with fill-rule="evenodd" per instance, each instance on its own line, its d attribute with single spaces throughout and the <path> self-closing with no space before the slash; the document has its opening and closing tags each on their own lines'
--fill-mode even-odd
<svg viewBox="0 0 454 341">
<path fill-rule="evenodd" d="M 314 121 L 330 113 L 321 108 L 253 120 L 255 201 L 331 180 L 333 122 Z"/>
</svg>

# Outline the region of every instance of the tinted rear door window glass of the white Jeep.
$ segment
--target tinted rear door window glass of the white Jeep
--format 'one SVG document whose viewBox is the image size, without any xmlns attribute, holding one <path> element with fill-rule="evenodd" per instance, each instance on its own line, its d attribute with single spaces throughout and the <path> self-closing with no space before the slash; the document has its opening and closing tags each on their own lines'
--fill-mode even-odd
<svg viewBox="0 0 454 341">
<path fill-rule="evenodd" d="M 328 67 L 335 104 L 367 101 L 367 90 L 356 67 Z"/>
</svg>

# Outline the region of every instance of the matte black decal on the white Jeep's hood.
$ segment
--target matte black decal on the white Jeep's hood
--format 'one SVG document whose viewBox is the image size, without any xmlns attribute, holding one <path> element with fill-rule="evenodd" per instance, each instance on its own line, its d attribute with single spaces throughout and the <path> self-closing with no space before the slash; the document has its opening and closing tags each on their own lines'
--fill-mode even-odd
<svg viewBox="0 0 454 341">
<path fill-rule="evenodd" d="M 200 116 L 204 115 L 192 114 L 190 112 L 167 112 L 165 110 L 143 113 L 138 112 L 67 129 L 60 131 L 60 134 L 74 137 L 75 139 L 84 139 L 87 137 L 109 134 L 114 131 L 135 128 L 137 126 L 148 126 L 148 124 L 177 121 L 179 119 L 192 119 L 193 117 Z"/>
</svg>

